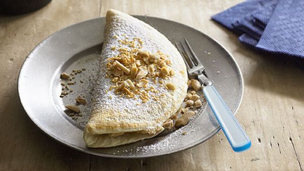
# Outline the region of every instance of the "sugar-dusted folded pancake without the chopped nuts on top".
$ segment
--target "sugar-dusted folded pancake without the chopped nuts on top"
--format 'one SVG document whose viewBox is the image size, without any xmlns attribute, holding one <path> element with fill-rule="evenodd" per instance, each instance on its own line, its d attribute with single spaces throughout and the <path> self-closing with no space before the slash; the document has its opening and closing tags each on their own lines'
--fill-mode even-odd
<svg viewBox="0 0 304 171">
<path fill-rule="evenodd" d="M 111 90 L 112 78 L 106 74 L 107 58 L 117 56 L 120 53 L 118 49 L 130 49 L 129 44 L 124 44 L 124 40 L 128 39 L 138 40 L 140 51 L 166 54 L 174 73 L 165 79 L 148 80 L 147 86 L 153 87 L 157 93 L 148 92 L 150 99 L 146 102 L 140 98 L 126 98 L 116 94 Z M 161 133 L 164 122 L 176 113 L 186 96 L 186 73 L 181 55 L 163 34 L 128 14 L 109 10 L 106 14 L 105 40 L 94 88 L 93 107 L 84 130 L 86 145 L 92 148 L 113 147 Z M 168 88 L 169 83 L 174 85 L 174 90 Z M 154 96 L 158 96 L 156 100 L 151 99 Z"/>
</svg>

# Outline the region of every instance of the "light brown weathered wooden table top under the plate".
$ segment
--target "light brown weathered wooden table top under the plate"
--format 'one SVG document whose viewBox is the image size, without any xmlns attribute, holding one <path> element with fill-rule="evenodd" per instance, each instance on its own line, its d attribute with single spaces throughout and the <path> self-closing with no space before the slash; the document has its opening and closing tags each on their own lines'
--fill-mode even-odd
<svg viewBox="0 0 304 171">
<path fill-rule="evenodd" d="M 210 16 L 242 0 L 54 0 L 20 16 L 0 16 L 0 170 L 303 170 L 304 71 L 240 44 Z M 110 8 L 177 21 L 214 37 L 239 63 L 245 92 L 237 118 L 252 141 L 232 151 L 222 132 L 192 149 L 146 159 L 111 159 L 67 148 L 27 118 L 17 95 L 28 53 L 61 28 L 104 16 Z"/>
</svg>

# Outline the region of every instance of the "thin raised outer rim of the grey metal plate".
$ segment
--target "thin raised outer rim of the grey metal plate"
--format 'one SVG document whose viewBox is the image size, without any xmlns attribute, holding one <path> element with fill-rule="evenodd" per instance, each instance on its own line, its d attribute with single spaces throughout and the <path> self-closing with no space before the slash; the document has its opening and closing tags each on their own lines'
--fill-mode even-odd
<svg viewBox="0 0 304 171">
<path fill-rule="evenodd" d="M 169 22 L 174 22 L 176 24 L 179 24 L 179 25 L 182 25 L 182 26 L 185 26 L 185 27 L 188 27 L 190 29 L 193 29 L 194 31 L 197 31 L 201 34 L 203 34 L 204 36 L 206 36 L 207 38 L 209 38 L 210 40 L 214 41 L 217 45 L 219 45 L 232 59 L 232 61 L 234 62 L 234 65 L 236 66 L 236 70 L 238 71 L 239 73 L 239 77 L 240 77 L 240 86 L 241 86 L 241 95 L 240 95 L 240 99 L 238 101 L 238 105 L 236 107 L 236 110 L 235 112 L 233 113 L 234 115 L 236 115 L 236 113 L 238 112 L 241 104 L 242 104 L 242 101 L 243 101 L 243 95 L 244 95 L 244 78 L 243 78 L 243 75 L 242 75 L 242 71 L 240 69 L 240 66 L 239 64 L 237 63 L 236 59 L 234 58 L 234 56 L 222 45 L 220 44 L 220 42 L 218 42 L 216 39 L 214 39 L 213 37 L 211 37 L 210 35 L 196 29 L 196 28 L 193 28 L 191 26 L 188 26 L 188 25 L 185 25 L 183 23 L 179 23 L 177 21 L 173 21 L 173 20 L 168 20 L 168 19 L 164 19 L 164 18 L 159 18 L 159 17 L 152 17 L 152 16 L 145 16 L 145 15 L 132 15 L 133 17 L 144 17 L 146 19 L 149 19 L 149 18 L 154 18 L 154 19 L 158 19 L 158 20 L 165 20 L 165 21 L 169 21 Z M 82 24 L 84 22 L 90 22 L 90 21 L 93 21 L 93 20 L 100 20 L 102 18 L 105 18 L 105 17 L 96 17 L 96 18 L 92 18 L 92 19 L 89 19 L 89 20 L 84 20 L 84 21 L 81 21 L 81 22 L 78 22 L 78 23 L 74 23 L 74 24 L 71 24 L 69 26 L 66 26 L 64 28 L 61 28 L 59 30 L 57 30 L 56 32 L 50 34 L 49 36 L 47 36 L 45 39 L 43 39 L 42 41 L 39 42 L 39 44 L 37 44 L 33 50 L 30 51 L 30 53 L 26 56 L 26 58 L 24 59 L 23 63 L 22 63 L 22 66 L 20 67 L 20 70 L 19 70 L 19 73 L 18 73 L 18 80 L 17 80 L 17 94 L 18 94 L 18 97 L 19 97 L 19 101 L 21 103 L 21 106 L 23 107 L 27 117 L 31 120 L 32 123 L 34 123 L 34 125 L 36 127 L 38 127 L 44 134 L 46 134 L 48 137 L 51 137 L 52 139 L 54 139 L 56 142 L 59 142 L 60 144 L 66 146 L 66 147 L 69 147 L 69 148 L 72 148 L 72 149 L 75 149 L 75 150 L 78 150 L 78 151 L 81 151 L 83 153 L 87 153 L 87 154 L 92 154 L 92 155 L 96 155 L 96 156 L 101 156 L 101 157 L 110 157 L 110 158 L 128 158 L 128 159 L 136 159 L 136 158 L 148 158 L 148 157 L 156 157 L 156 156 L 162 156 L 162 155 L 169 155 L 169 154 L 173 154 L 173 153 L 176 153 L 176 152 L 179 152 L 179 151 L 184 151 L 184 150 L 187 150 L 189 148 L 193 148 L 199 144 L 202 144 L 203 142 L 209 140 L 210 138 L 212 138 L 214 135 L 216 135 L 220 130 L 220 126 L 218 126 L 214 131 L 212 131 L 210 134 L 208 134 L 208 136 L 206 136 L 205 139 L 202 139 L 202 141 L 197 141 L 196 143 L 193 143 L 185 148 L 181 148 L 181 149 L 177 149 L 177 150 L 172 150 L 172 151 L 169 151 L 169 152 L 165 152 L 165 153 L 158 153 L 158 154 L 155 154 L 155 155 L 143 155 L 143 156 L 123 156 L 123 155 L 111 155 L 111 154 L 104 154 L 104 153 L 98 153 L 98 152 L 95 152 L 95 151 L 89 151 L 89 150 L 84 150 L 82 148 L 79 148 L 77 146 L 74 146 L 73 144 L 70 144 L 70 143 L 67 143 L 66 141 L 62 140 L 62 139 L 58 139 L 58 137 L 54 136 L 52 133 L 49 133 L 49 132 L 46 132 L 45 130 L 42 129 L 41 125 L 37 122 L 35 122 L 35 119 L 32 118 L 30 116 L 30 114 L 28 114 L 28 110 L 27 108 L 23 105 L 23 101 L 26 100 L 23 98 L 22 100 L 22 95 L 20 95 L 20 87 L 21 87 L 21 84 L 20 84 L 20 78 L 22 76 L 22 71 L 24 70 L 24 66 L 26 65 L 26 63 L 28 62 L 28 59 L 29 59 L 29 56 L 31 56 L 35 50 L 37 48 L 39 48 L 46 40 L 48 40 L 49 38 L 51 38 L 52 36 L 54 36 L 57 32 L 59 31 L 62 31 L 64 29 L 67 29 L 67 28 L 70 28 L 70 27 L 73 27 L 73 26 L 76 26 L 76 25 L 79 25 L 79 24 Z M 207 103 L 207 106 L 209 104 Z"/>
</svg>

